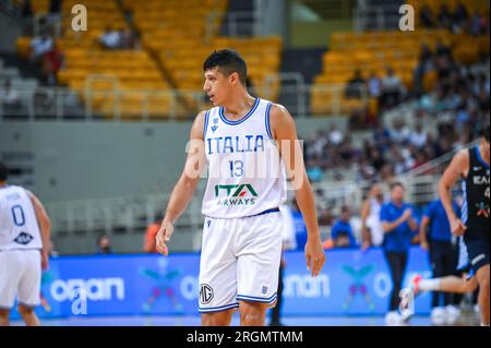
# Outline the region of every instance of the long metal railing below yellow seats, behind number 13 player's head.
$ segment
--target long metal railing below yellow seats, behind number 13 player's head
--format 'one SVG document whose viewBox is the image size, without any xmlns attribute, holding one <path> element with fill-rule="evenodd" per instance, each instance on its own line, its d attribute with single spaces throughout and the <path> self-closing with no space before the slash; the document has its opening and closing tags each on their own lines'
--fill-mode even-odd
<svg viewBox="0 0 491 348">
<path fill-rule="evenodd" d="M 113 83 L 112 89 L 95 89 L 91 81 L 104 77 L 89 77 L 84 87 L 75 91 L 68 87 L 33 86 L 29 88 L 10 87 L 0 89 L 0 121 L 9 120 L 108 120 L 122 119 L 135 121 L 148 120 L 191 120 L 199 111 L 207 109 L 203 91 L 179 91 L 194 107 L 192 112 L 182 108 L 172 89 L 120 89 Z M 324 93 L 328 96 L 322 105 L 322 115 L 342 115 L 342 100 L 346 84 L 308 85 L 299 74 L 278 74 L 265 77 L 266 85 L 255 86 L 259 96 L 277 101 L 279 92 L 284 96 L 285 107 L 296 117 L 312 113 L 311 94 Z M 275 83 L 276 81 L 276 83 Z M 288 85 L 287 82 L 294 82 Z M 368 100 L 366 88 L 362 100 Z"/>
</svg>

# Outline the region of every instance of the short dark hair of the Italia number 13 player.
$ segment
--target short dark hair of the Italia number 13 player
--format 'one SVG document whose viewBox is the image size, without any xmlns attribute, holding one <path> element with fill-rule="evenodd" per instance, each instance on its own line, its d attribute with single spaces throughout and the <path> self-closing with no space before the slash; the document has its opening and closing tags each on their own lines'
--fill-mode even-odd
<svg viewBox="0 0 491 348">
<path fill-rule="evenodd" d="M 221 49 L 209 55 L 203 63 L 203 71 L 214 68 L 219 68 L 226 76 L 230 75 L 232 72 L 237 72 L 240 82 L 246 86 L 248 65 L 243 58 L 235 50 Z"/>
</svg>

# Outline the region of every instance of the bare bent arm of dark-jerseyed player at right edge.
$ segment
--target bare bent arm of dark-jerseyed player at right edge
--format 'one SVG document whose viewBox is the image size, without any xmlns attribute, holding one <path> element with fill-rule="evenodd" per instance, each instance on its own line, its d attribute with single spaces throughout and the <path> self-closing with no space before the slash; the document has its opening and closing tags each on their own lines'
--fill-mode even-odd
<svg viewBox="0 0 491 348">
<path fill-rule="evenodd" d="M 445 169 L 445 172 L 443 173 L 439 182 L 440 199 L 442 201 L 443 207 L 445 208 L 448 221 L 451 223 L 452 233 L 454 233 L 455 236 L 463 236 L 467 227 L 455 215 L 454 207 L 452 205 L 451 190 L 462 176 L 467 176 L 468 170 L 469 152 L 467 149 L 462 149 L 454 156 L 454 158 L 452 158 L 451 164 Z"/>
</svg>

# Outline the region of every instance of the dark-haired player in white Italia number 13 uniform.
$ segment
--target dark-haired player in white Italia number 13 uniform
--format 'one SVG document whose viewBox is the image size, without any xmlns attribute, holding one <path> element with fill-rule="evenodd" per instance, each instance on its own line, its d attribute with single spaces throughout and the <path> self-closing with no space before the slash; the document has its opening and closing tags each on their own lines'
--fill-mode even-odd
<svg viewBox="0 0 491 348">
<path fill-rule="evenodd" d="M 264 325 L 266 310 L 275 305 L 277 296 L 279 206 L 286 201 L 286 175 L 294 182 L 309 231 L 307 267 L 318 276 L 325 255 L 314 196 L 292 117 L 285 107 L 248 93 L 244 60 L 232 50 L 215 51 L 203 72 L 203 88 L 214 108 L 200 112 L 192 125 L 190 139 L 196 146 L 189 152 L 170 196 L 156 236 L 157 250 L 168 254 L 173 224 L 207 165 L 200 263 L 202 325 L 229 325 L 237 309 L 241 325 Z"/>
</svg>

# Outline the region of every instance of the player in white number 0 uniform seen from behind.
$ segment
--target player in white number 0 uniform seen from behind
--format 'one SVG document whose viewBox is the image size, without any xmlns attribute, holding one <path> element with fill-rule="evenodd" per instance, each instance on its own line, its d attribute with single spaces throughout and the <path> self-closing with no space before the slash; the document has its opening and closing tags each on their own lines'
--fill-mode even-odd
<svg viewBox="0 0 491 348">
<path fill-rule="evenodd" d="M 7 184 L 8 168 L 0 163 L 0 326 L 9 325 L 17 299 L 27 326 L 38 326 L 34 308 L 40 304 L 41 268 L 48 267 L 50 220 L 29 191 Z"/>
</svg>

